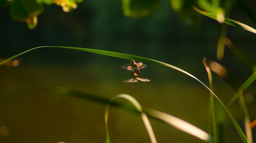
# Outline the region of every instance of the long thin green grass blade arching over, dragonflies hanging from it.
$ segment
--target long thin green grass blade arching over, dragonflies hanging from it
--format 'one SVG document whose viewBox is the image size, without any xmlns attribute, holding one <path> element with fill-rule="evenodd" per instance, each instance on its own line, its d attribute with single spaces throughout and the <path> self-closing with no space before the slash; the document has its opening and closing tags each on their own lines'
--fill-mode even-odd
<svg viewBox="0 0 256 143">
<path fill-rule="evenodd" d="M 240 136 L 242 137 L 243 141 L 244 142 L 248 142 L 245 135 L 243 134 L 242 130 L 240 129 L 240 127 L 238 126 L 238 124 L 236 123 L 235 119 L 231 116 L 231 114 L 229 113 L 229 111 L 227 110 L 227 108 L 225 107 L 225 105 L 220 101 L 220 99 L 203 83 L 201 82 L 199 79 L 197 79 L 195 76 L 191 75 L 190 73 L 184 71 L 184 70 L 181 70 L 180 68 L 178 67 L 175 67 L 175 66 L 172 66 L 170 64 L 166 64 L 166 63 L 163 63 L 163 62 L 160 62 L 160 61 L 156 61 L 156 60 L 152 60 L 152 59 L 147 59 L 147 58 L 143 58 L 143 57 L 139 57 L 139 56 L 133 56 L 133 55 L 127 55 L 127 54 L 122 54 L 122 53 L 115 53 L 115 52 L 109 52 L 109 51 L 103 51 L 103 50 L 95 50 L 95 49 L 86 49 L 86 48 L 76 48 L 76 47 L 60 47 L 60 46 L 43 46 L 43 47 L 59 47 L 59 48 L 68 48 L 68 49 L 75 49 L 75 50 L 82 50 L 82 51 L 87 51 L 87 52 L 92 52 L 92 53 L 98 53 L 98 54 L 102 54 L 102 55 L 107 55 L 107 56 L 114 56 L 114 57 L 118 57 L 118 58 L 124 58 L 124 59 L 136 59 L 136 60 L 139 60 L 139 61 L 147 61 L 147 62 L 151 62 L 151 63 L 155 63 L 155 64 L 161 64 L 161 65 L 164 65 L 166 67 L 170 67 L 170 68 L 173 68 L 175 70 L 178 70 L 182 73 L 185 73 L 187 74 L 188 76 L 191 76 L 192 78 L 196 79 L 198 82 L 200 82 L 201 84 L 203 84 L 203 86 L 205 86 L 217 99 L 218 101 L 222 104 L 222 106 L 225 108 L 225 110 L 227 111 L 230 119 L 232 120 L 232 122 L 234 123 L 234 125 L 236 126 L 236 129 L 238 130 Z M 40 48 L 40 47 L 35 47 L 33 49 L 30 49 L 30 50 L 34 50 L 36 48 Z M 20 56 L 21 54 L 23 53 L 26 53 L 30 50 L 27 50 L 25 52 L 22 52 L 22 53 L 19 53 L 5 61 L 2 61 L 0 63 L 1 64 L 4 64 L 14 58 L 16 58 L 17 56 Z"/>
</svg>

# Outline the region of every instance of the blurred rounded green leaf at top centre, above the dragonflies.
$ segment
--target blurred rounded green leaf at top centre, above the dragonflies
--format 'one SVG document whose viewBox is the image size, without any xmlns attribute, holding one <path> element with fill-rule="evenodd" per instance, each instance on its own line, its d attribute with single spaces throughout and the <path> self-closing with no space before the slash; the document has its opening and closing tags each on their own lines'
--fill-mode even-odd
<svg viewBox="0 0 256 143">
<path fill-rule="evenodd" d="M 131 18 L 145 18 L 154 14 L 159 0 L 122 0 L 123 15 Z"/>
</svg>

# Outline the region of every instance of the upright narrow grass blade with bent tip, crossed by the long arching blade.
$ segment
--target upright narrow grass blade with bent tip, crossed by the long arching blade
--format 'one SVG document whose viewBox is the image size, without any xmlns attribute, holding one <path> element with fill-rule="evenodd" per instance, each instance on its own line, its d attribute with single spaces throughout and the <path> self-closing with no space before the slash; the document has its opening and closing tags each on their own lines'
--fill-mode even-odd
<svg viewBox="0 0 256 143">
<path fill-rule="evenodd" d="M 203 59 L 203 65 L 206 68 L 209 77 L 210 90 L 213 91 L 212 85 L 212 73 L 208 65 L 206 64 L 206 58 Z M 213 137 L 212 142 L 217 142 L 217 133 L 216 133 L 216 125 L 215 125 L 215 106 L 214 106 L 214 96 L 210 92 L 210 100 L 209 100 L 209 120 L 210 120 L 210 135 Z"/>
</svg>

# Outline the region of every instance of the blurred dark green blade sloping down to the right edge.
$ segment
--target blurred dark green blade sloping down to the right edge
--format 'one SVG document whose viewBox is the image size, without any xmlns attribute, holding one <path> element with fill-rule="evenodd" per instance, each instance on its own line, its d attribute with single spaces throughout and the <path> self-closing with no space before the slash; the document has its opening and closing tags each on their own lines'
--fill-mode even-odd
<svg viewBox="0 0 256 143">
<path fill-rule="evenodd" d="M 256 71 L 256 65 L 254 61 L 250 59 L 245 53 L 243 53 L 243 51 L 237 48 L 230 39 L 225 38 L 224 44 L 227 45 L 233 54 L 236 55 L 237 58 L 240 59 L 248 68 L 250 68 L 252 72 Z"/>
</svg>

